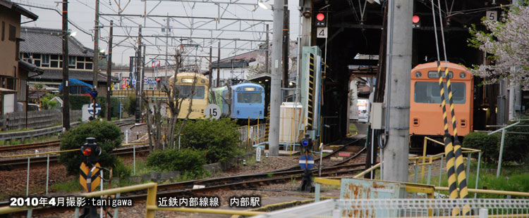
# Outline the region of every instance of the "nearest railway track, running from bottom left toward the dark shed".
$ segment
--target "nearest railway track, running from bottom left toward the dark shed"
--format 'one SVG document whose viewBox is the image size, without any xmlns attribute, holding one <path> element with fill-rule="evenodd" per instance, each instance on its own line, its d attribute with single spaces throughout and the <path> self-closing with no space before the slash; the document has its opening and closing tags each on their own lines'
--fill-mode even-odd
<svg viewBox="0 0 529 218">
<path fill-rule="evenodd" d="M 351 146 L 355 143 L 358 143 L 361 139 L 351 141 L 346 143 L 346 146 Z M 342 150 L 344 147 L 340 148 Z M 330 155 L 327 155 L 326 158 L 331 157 L 332 155 L 339 152 L 335 150 Z M 339 163 L 336 163 L 331 167 L 322 168 L 322 177 L 336 177 L 343 174 L 352 174 L 356 172 L 361 172 L 364 169 L 364 164 L 347 164 L 348 161 L 353 160 L 358 157 L 360 153 L 363 153 L 362 149 L 355 155 L 352 155 L 350 158 L 346 158 Z M 157 186 L 157 196 L 158 197 L 186 197 L 186 196 L 197 196 L 197 195 L 207 195 L 208 193 L 214 193 L 215 191 L 220 190 L 240 190 L 240 189 L 249 189 L 249 188 L 260 188 L 261 186 L 269 184 L 281 184 L 287 183 L 293 180 L 301 179 L 303 176 L 303 169 L 299 168 L 299 165 L 286 167 L 283 169 L 276 169 L 269 172 L 261 172 L 257 174 L 246 174 L 238 175 L 232 177 L 221 177 L 216 179 L 198 179 L 192 181 L 183 181 L 173 184 L 159 184 Z M 317 175 L 318 169 L 311 169 L 312 174 Z M 205 186 L 204 188 L 193 188 L 195 185 Z M 122 199 L 133 199 L 133 200 L 145 200 L 147 198 L 147 193 L 143 191 L 133 191 L 128 193 L 121 193 Z M 0 203 L 0 206 L 3 206 L 3 203 Z M 60 212 L 64 210 L 71 210 L 71 208 L 65 207 L 44 207 L 37 210 L 34 210 L 34 214 L 43 214 L 43 213 L 53 213 Z M 22 212 L 20 214 L 23 214 Z"/>
</svg>

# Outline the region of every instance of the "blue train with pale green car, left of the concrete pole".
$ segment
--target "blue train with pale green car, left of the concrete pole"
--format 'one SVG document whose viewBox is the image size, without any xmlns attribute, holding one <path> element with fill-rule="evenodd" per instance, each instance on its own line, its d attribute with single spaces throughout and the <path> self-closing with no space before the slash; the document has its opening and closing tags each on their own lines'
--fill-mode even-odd
<svg viewBox="0 0 529 218">
<path fill-rule="evenodd" d="M 219 105 L 225 117 L 255 120 L 265 116 L 265 89 L 260 84 L 243 82 L 213 88 L 211 96 L 209 103 Z"/>
</svg>

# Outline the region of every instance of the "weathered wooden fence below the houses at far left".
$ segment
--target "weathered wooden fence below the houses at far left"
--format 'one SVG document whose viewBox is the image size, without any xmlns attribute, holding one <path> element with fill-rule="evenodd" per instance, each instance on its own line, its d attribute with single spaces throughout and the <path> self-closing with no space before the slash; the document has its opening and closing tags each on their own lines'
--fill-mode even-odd
<svg viewBox="0 0 529 218">
<path fill-rule="evenodd" d="M 81 110 L 70 111 L 70 121 L 75 122 L 81 118 Z M 51 127 L 62 121 L 61 110 L 28 111 L 28 128 L 40 129 Z M 0 116 L 0 129 L 2 131 L 23 129 L 26 127 L 25 111 L 9 113 Z"/>
</svg>

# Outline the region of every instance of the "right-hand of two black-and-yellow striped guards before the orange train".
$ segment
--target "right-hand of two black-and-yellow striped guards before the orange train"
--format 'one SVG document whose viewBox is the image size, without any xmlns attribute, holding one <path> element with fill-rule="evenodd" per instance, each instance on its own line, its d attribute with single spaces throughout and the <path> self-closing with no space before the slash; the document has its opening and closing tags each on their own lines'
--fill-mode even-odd
<svg viewBox="0 0 529 218">
<path fill-rule="evenodd" d="M 440 68 L 440 67 L 439 67 Z M 452 127 L 454 128 L 454 155 L 456 158 L 456 172 L 457 172 L 457 181 L 459 185 L 459 198 L 468 198 L 468 188 L 466 184 L 466 172 L 465 165 L 463 164 L 463 154 L 461 153 L 461 142 L 457 137 L 457 120 L 456 114 L 454 113 L 454 104 L 452 101 L 452 89 L 449 77 L 448 66 L 444 70 L 444 75 L 446 76 L 446 90 L 448 91 L 448 103 L 450 105 L 450 115 L 452 117 Z M 470 216 L 470 209 L 468 205 L 463 207 L 463 214 Z"/>
</svg>

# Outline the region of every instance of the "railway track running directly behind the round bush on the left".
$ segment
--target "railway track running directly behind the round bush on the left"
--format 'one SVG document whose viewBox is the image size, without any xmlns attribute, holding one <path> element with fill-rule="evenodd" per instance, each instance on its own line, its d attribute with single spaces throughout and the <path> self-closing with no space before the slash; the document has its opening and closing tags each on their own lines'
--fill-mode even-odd
<svg viewBox="0 0 529 218">
<path fill-rule="evenodd" d="M 136 150 L 136 153 L 149 152 L 149 146 L 137 146 L 135 150 Z M 132 155 L 132 153 L 133 153 L 132 147 L 117 148 L 117 149 L 114 149 L 114 151 L 112 152 L 113 155 L 118 155 L 118 156 Z M 58 159 L 59 159 L 59 155 L 49 156 L 49 162 L 51 164 L 55 164 Z M 39 155 L 39 157 L 31 157 L 30 159 L 31 165 L 42 165 L 42 164 L 46 164 L 46 162 L 47 162 L 46 155 Z M 27 167 L 27 165 L 28 165 L 28 158 L 0 160 L 0 170 L 17 169 L 21 167 Z"/>
</svg>

